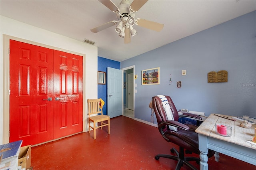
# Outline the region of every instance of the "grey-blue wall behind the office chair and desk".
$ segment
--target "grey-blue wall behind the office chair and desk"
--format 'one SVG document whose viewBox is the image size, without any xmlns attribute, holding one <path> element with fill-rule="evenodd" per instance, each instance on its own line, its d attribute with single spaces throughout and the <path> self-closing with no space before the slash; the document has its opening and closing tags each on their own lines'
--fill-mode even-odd
<svg viewBox="0 0 256 170">
<path fill-rule="evenodd" d="M 120 67 L 131 65 L 139 75 L 135 118 L 150 122 L 148 104 L 160 94 L 170 95 L 177 109 L 256 117 L 256 11 L 122 61 Z M 154 67 L 160 67 L 160 85 L 141 85 L 141 70 Z M 220 70 L 228 71 L 228 82 L 207 83 L 207 73 Z M 176 88 L 177 81 L 182 88 Z"/>
</svg>

